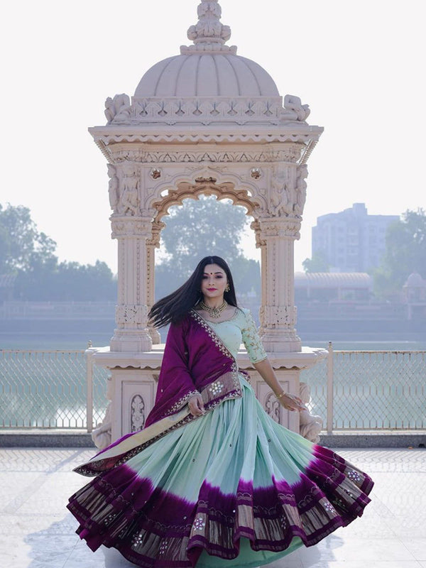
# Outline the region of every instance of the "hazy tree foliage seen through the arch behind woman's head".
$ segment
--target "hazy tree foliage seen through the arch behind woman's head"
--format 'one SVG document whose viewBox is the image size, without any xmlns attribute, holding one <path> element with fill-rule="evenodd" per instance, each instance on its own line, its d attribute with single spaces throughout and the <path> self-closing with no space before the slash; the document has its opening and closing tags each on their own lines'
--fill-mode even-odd
<svg viewBox="0 0 426 568">
<path fill-rule="evenodd" d="M 201 258 L 210 254 L 222 256 L 229 264 L 237 293 L 254 289 L 259 294 L 259 263 L 244 258 L 240 249 L 246 219 L 243 207 L 217 201 L 214 196 L 187 199 L 181 207 L 170 209 L 170 215 L 163 218 L 165 258 L 155 266 L 155 298 L 179 288 Z"/>
</svg>

